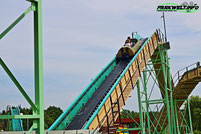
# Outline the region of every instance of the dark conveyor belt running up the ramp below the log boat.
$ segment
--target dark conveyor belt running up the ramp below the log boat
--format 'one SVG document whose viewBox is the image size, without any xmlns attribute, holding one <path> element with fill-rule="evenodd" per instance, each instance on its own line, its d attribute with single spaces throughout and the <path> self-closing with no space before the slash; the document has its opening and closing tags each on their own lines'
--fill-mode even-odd
<svg viewBox="0 0 201 134">
<path fill-rule="evenodd" d="M 129 60 L 120 61 L 114 68 L 114 70 L 103 81 L 102 85 L 96 90 L 92 97 L 87 101 L 85 106 L 75 116 L 71 123 L 66 127 L 66 130 L 81 129 L 92 113 L 96 110 L 104 96 L 110 90 L 115 83 L 121 72 L 124 70 Z"/>
</svg>

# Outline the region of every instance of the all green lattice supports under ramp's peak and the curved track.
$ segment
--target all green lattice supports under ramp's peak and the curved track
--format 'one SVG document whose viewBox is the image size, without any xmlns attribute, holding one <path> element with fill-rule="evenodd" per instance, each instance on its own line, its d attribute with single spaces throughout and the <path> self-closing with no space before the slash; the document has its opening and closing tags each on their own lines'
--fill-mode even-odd
<svg viewBox="0 0 201 134">
<path fill-rule="evenodd" d="M 176 100 L 172 96 L 173 83 L 167 50 L 159 45 L 154 53 L 155 58 L 149 61 L 136 86 L 140 124 L 136 123 L 137 128 L 123 131 L 140 130 L 139 133 L 143 134 L 193 133 L 189 99 L 186 100 L 187 109 L 181 111 L 177 107 L 177 102 L 184 100 Z M 160 68 L 154 68 L 154 64 L 160 64 Z M 163 80 L 159 79 L 161 72 Z M 155 94 L 156 90 L 159 94 Z M 188 114 L 189 122 L 185 120 L 185 114 Z"/>
</svg>

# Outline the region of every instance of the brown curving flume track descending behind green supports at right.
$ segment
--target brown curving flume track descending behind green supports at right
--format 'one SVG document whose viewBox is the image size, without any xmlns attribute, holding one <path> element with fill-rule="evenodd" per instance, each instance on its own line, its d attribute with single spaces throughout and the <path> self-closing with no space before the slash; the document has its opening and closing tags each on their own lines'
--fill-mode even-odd
<svg viewBox="0 0 201 134">
<path fill-rule="evenodd" d="M 162 61 L 160 57 L 157 55 L 157 53 L 159 53 L 158 49 L 155 50 L 151 59 L 152 59 L 153 67 L 155 70 L 155 74 L 157 74 L 156 77 L 157 77 L 158 85 L 160 88 L 161 96 L 164 99 L 165 92 L 163 88 L 164 88 L 165 80 L 163 79 L 163 72 L 160 69 L 162 66 Z M 166 60 L 165 54 L 164 54 L 164 57 Z M 165 77 L 167 77 L 167 75 Z M 176 80 L 174 80 L 175 78 Z M 187 98 L 189 97 L 193 89 L 196 87 L 196 85 L 200 81 L 201 81 L 201 67 L 199 62 L 179 70 L 173 78 L 171 77 L 171 86 L 173 88 L 172 97 L 173 97 L 174 103 L 176 103 L 174 105 L 176 106 L 176 109 L 177 109 L 177 110 L 174 109 L 175 113 L 177 114 L 177 119 L 176 119 L 178 120 L 177 126 L 181 125 L 182 123 L 182 117 L 181 117 L 182 115 L 179 112 L 179 108 L 187 100 Z M 167 85 L 167 88 L 169 89 L 169 85 Z M 170 96 L 170 91 L 168 91 L 168 94 Z M 160 125 L 156 125 L 157 123 L 159 123 Z M 164 105 L 161 108 L 157 116 L 157 119 L 153 121 L 151 130 L 153 132 L 155 128 L 157 129 L 158 132 L 160 132 L 161 130 L 164 130 L 167 125 L 168 125 L 167 108 Z"/>
</svg>

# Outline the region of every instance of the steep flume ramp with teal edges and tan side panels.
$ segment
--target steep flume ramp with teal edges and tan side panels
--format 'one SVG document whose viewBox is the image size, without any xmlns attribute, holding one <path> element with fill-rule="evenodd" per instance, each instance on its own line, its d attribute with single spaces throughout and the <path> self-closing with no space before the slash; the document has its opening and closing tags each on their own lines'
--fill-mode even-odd
<svg viewBox="0 0 201 134">
<path fill-rule="evenodd" d="M 116 74 L 112 84 L 110 83 L 110 86 L 107 87 L 108 89 L 104 91 L 105 94 L 103 93 L 103 96 L 99 96 L 100 98 L 98 98 L 95 94 L 99 92 L 99 89 L 104 83 L 107 83 L 111 75 L 114 75 L 116 67 L 120 66 L 119 63 L 116 62 L 116 58 L 114 58 L 53 123 L 49 130 L 96 130 L 103 126 L 114 125 L 115 120 L 119 117 L 120 110 L 125 105 L 141 72 L 144 70 L 159 44 L 159 33 L 156 31 L 147 40 L 144 40 L 142 47 L 130 61 L 120 63 L 123 64 L 120 67 L 121 69 L 117 69 L 117 72 L 120 73 Z M 97 105 L 92 103 L 92 98 L 99 100 Z M 85 108 L 86 105 L 90 106 L 90 103 L 95 107 L 88 110 L 90 112 L 87 115 L 83 114 L 83 111 L 87 111 Z"/>
</svg>

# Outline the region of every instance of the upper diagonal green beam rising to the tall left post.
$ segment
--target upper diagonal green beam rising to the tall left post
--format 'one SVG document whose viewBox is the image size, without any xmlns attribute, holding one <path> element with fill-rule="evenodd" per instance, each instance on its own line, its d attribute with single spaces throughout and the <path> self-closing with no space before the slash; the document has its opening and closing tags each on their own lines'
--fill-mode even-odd
<svg viewBox="0 0 201 134">
<path fill-rule="evenodd" d="M 18 17 L 8 28 L 6 28 L 1 34 L 0 34 L 0 40 L 15 26 L 17 23 L 19 23 L 30 11 L 32 10 L 32 6 L 29 7 L 20 17 Z"/>
</svg>

